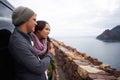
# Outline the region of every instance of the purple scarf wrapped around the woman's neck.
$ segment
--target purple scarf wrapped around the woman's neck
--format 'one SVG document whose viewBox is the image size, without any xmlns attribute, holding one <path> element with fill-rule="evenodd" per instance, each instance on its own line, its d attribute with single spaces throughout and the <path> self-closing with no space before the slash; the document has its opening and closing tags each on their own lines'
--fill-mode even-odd
<svg viewBox="0 0 120 80">
<path fill-rule="evenodd" d="M 33 41 L 34 41 L 34 49 L 38 55 L 42 55 L 47 51 L 47 39 L 39 40 L 38 37 L 34 33 L 30 33 Z"/>
</svg>

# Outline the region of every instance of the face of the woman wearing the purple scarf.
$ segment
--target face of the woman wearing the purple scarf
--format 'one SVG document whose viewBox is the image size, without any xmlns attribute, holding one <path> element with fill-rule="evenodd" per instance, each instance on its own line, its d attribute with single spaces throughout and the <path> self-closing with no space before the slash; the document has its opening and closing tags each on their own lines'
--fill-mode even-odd
<svg viewBox="0 0 120 80">
<path fill-rule="evenodd" d="M 46 24 L 42 31 L 39 31 L 41 38 L 47 38 L 50 33 L 50 26 Z"/>
</svg>

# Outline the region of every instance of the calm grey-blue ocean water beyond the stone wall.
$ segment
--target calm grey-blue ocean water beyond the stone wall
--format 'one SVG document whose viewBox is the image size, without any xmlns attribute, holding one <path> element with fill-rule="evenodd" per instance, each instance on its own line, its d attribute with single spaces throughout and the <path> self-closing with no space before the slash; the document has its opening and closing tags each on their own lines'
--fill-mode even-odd
<svg viewBox="0 0 120 80">
<path fill-rule="evenodd" d="M 103 42 L 95 37 L 57 37 L 55 39 L 120 70 L 120 42 Z"/>
</svg>

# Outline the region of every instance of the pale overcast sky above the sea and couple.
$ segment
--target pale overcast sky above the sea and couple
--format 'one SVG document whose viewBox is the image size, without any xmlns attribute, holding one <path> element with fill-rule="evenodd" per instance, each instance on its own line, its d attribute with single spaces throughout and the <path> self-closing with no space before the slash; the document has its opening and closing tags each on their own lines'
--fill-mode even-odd
<svg viewBox="0 0 120 80">
<path fill-rule="evenodd" d="M 120 0 L 8 0 L 34 10 L 51 37 L 97 36 L 120 24 Z"/>
</svg>

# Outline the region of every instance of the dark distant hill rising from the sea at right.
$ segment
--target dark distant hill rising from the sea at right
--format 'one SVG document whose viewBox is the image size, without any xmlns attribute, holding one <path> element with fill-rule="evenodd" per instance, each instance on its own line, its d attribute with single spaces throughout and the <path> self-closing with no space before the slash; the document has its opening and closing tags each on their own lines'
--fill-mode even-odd
<svg viewBox="0 0 120 80">
<path fill-rule="evenodd" d="M 111 30 L 105 30 L 102 34 L 97 36 L 97 39 L 110 42 L 120 41 L 120 25 L 114 27 Z"/>
</svg>

